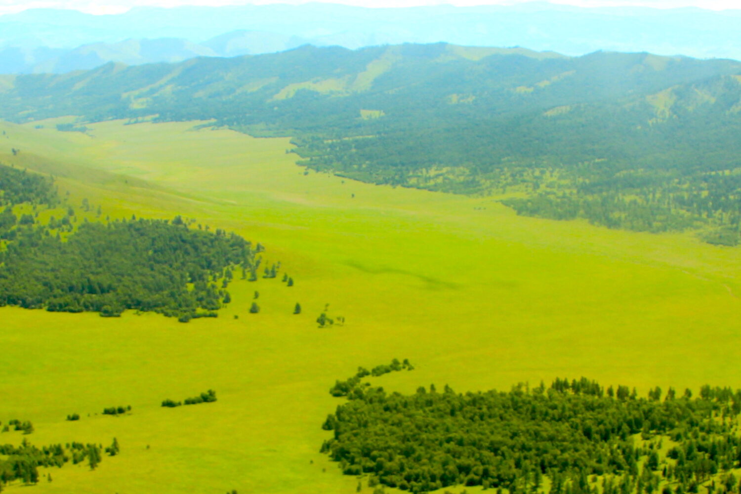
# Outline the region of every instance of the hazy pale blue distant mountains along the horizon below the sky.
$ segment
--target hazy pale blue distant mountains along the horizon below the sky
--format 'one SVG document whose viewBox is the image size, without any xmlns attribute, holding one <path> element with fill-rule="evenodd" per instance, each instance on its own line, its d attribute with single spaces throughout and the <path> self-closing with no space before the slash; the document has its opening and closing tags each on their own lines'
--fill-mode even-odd
<svg viewBox="0 0 741 494">
<path fill-rule="evenodd" d="M 33 9 L 0 16 L 0 73 L 63 73 L 108 61 L 274 53 L 302 44 L 350 49 L 446 41 L 741 59 L 741 10 L 511 6 L 362 8 L 340 4 L 136 7 L 93 16 Z"/>
</svg>

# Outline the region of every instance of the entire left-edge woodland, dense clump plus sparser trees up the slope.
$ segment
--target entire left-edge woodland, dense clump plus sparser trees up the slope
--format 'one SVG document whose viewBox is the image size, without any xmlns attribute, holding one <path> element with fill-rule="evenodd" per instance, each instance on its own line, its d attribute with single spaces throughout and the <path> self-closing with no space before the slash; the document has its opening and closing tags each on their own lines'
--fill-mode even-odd
<svg viewBox="0 0 741 494">
<path fill-rule="evenodd" d="M 107 317 L 133 309 L 187 322 L 216 316 L 233 273 L 257 278 L 262 246 L 241 236 L 180 216 L 104 221 L 100 208 L 89 221 L 87 199 L 79 220 L 66 201 L 57 207 L 50 178 L 0 164 L 0 307 Z M 42 211 L 59 216 L 42 220 Z"/>
</svg>

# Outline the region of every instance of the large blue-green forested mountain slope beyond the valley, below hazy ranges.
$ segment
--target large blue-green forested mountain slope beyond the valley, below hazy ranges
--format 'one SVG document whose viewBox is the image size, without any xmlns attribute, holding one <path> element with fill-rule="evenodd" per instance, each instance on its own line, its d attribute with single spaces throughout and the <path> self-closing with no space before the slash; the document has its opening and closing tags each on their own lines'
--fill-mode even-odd
<svg viewBox="0 0 741 494">
<path fill-rule="evenodd" d="M 8 77 L 0 116 L 215 119 L 342 176 L 739 242 L 741 62 L 448 44 Z"/>
</svg>

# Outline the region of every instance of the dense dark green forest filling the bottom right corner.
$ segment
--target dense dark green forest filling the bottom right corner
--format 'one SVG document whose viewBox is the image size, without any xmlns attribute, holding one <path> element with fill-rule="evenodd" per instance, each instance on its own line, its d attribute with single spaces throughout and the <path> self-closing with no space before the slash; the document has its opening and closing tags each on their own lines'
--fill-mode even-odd
<svg viewBox="0 0 741 494">
<path fill-rule="evenodd" d="M 729 470 L 741 466 L 741 391 L 706 386 L 692 398 L 654 388 L 638 398 L 582 378 L 508 393 L 358 386 L 348 398 L 325 421 L 334 436 L 322 452 L 345 474 L 369 475 L 371 485 L 414 493 L 456 484 L 511 494 L 546 486 L 549 494 L 682 494 L 700 485 L 737 492 Z"/>
</svg>

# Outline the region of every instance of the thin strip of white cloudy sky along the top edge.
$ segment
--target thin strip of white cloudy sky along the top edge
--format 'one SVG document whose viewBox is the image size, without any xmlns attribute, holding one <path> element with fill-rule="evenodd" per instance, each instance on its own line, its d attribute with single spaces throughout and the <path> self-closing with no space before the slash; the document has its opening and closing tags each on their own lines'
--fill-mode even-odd
<svg viewBox="0 0 741 494">
<path fill-rule="evenodd" d="M 362 7 L 411 7 L 414 5 L 453 4 L 514 4 L 523 0 L 342 0 L 328 3 Z M 239 5 L 239 4 L 302 4 L 302 0 L 0 0 L 0 14 L 20 12 L 30 8 L 52 7 L 82 10 L 87 13 L 121 13 L 136 6 L 176 7 L 179 5 Z M 551 3 L 579 5 L 580 7 L 605 7 L 642 5 L 645 7 L 702 7 L 723 10 L 738 9 L 740 0 L 551 0 Z"/>
</svg>

